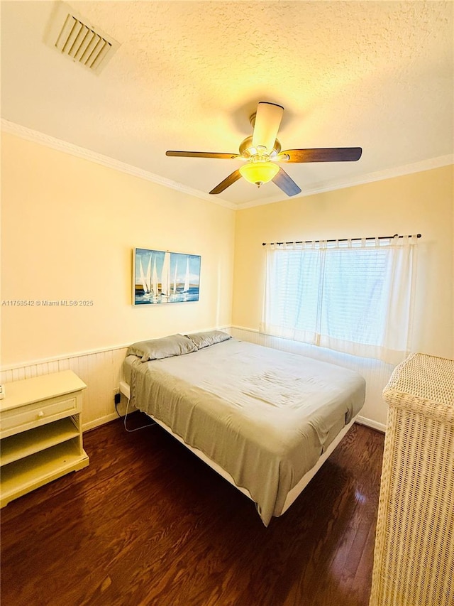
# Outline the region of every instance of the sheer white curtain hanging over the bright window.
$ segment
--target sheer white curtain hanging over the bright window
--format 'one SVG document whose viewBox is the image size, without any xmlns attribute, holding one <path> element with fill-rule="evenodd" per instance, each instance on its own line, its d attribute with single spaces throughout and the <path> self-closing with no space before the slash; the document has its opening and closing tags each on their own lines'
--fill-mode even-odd
<svg viewBox="0 0 454 606">
<path fill-rule="evenodd" d="M 417 242 L 267 244 L 262 332 L 397 364 L 409 352 Z"/>
</svg>

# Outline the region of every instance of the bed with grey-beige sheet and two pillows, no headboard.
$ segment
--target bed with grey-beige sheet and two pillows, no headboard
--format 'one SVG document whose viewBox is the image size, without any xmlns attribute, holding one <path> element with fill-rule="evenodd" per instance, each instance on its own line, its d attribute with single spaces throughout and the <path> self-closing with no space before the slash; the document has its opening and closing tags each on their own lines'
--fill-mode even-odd
<svg viewBox="0 0 454 606">
<path fill-rule="evenodd" d="M 355 422 L 360 374 L 223 331 L 138 342 L 123 362 L 131 404 L 255 502 L 283 514 Z"/>
</svg>

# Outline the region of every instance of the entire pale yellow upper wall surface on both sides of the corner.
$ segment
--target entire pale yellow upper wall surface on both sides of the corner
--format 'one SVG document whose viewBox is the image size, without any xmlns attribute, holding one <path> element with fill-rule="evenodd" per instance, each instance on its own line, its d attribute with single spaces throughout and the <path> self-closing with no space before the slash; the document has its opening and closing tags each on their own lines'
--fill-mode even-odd
<svg viewBox="0 0 454 606">
<path fill-rule="evenodd" d="M 230 323 L 257 330 L 262 242 L 396 232 L 423 235 L 412 349 L 454 356 L 452 166 L 234 212 L 9 134 L 2 164 L 1 299 L 94 301 L 2 305 L 4 367 Z M 135 246 L 201 254 L 199 303 L 133 307 Z"/>
</svg>

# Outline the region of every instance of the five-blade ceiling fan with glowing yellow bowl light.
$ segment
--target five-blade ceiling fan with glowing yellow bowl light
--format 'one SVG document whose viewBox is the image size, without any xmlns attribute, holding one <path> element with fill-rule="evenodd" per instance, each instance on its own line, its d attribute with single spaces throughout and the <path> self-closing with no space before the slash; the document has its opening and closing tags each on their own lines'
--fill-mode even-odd
<svg viewBox="0 0 454 606">
<path fill-rule="evenodd" d="M 223 192 L 239 178 L 250 183 L 262 185 L 272 181 L 287 195 L 301 193 L 297 183 L 287 175 L 277 162 L 354 162 L 360 159 L 360 147 L 331 147 L 316 149 L 287 149 L 281 151 L 277 132 L 281 124 L 284 108 L 282 105 L 260 101 L 257 111 L 250 117 L 253 126 L 252 136 L 240 144 L 240 153 L 217 153 L 211 151 L 166 151 L 166 156 L 186 156 L 189 158 L 221 158 L 224 160 L 239 159 L 245 164 L 228 175 L 211 190 L 211 194 Z"/>
</svg>

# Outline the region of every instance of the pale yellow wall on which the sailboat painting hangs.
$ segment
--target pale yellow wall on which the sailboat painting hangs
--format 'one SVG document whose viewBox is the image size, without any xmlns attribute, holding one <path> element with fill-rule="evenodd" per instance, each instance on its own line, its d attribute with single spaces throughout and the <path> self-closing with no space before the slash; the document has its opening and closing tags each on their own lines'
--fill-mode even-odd
<svg viewBox="0 0 454 606">
<path fill-rule="evenodd" d="M 2 305 L 6 367 L 231 323 L 235 212 L 2 136 Z M 131 305 L 132 249 L 201 255 L 198 303 Z"/>
</svg>

